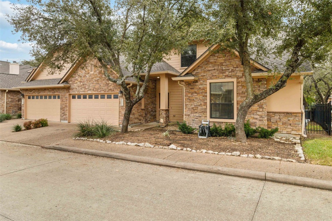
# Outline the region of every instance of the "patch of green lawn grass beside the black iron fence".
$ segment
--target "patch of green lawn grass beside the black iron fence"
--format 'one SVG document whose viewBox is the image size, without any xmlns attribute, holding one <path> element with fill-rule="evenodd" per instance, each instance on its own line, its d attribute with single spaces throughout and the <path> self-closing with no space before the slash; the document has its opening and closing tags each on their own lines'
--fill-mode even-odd
<svg viewBox="0 0 332 221">
<path fill-rule="evenodd" d="M 332 166 L 332 137 L 308 139 L 302 147 L 311 163 Z"/>
</svg>

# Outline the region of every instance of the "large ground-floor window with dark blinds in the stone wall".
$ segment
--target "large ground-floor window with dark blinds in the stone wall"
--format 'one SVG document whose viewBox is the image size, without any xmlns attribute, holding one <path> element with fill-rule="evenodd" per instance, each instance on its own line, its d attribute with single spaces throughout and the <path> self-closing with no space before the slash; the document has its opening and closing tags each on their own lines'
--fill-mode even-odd
<svg viewBox="0 0 332 221">
<path fill-rule="evenodd" d="M 210 118 L 234 119 L 234 83 L 210 83 Z"/>
</svg>

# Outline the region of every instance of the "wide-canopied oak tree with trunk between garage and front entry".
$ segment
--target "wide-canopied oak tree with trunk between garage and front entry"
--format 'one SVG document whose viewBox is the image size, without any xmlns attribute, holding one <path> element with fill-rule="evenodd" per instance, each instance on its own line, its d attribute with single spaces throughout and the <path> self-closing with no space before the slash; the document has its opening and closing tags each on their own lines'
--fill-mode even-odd
<svg viewBox="0 0 332 221">
<path fill-rule="evenodd" d="M 108 81 L 120 85 L 125 98 L 122 133 L 128 131 L 133 106 L 144 96 L 152 66 L 173 48 L 188 45 L 187 31 L 199 10 L 196 0 L 122 0 L 114 6 L 107 0 L 28 0 L 28 4 L 13 5 L 16 14 L 9 20 L 16 32 L 22 32 L 23 41 L 34 42 L 32 53 L 43 58 L 44 66 L 58 70 L 78 59 L 97 58 Z M 140 73 L 146 73 L 142 84 Z M 133 95 L 127 78 L 137 83 Z"/>
</svg>

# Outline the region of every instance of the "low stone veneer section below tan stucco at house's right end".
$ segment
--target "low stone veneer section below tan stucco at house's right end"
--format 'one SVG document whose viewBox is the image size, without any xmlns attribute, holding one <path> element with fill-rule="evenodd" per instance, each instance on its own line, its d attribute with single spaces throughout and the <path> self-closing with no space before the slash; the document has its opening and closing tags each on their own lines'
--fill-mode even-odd
<svg viewBox="0 0 332 221">
<path fill-rule="evenodd" d="M 302 134 L 302 113 L 301 112 L 267 112 L 267 127 L 279 128 L 281 134 Z"/>
</svg>

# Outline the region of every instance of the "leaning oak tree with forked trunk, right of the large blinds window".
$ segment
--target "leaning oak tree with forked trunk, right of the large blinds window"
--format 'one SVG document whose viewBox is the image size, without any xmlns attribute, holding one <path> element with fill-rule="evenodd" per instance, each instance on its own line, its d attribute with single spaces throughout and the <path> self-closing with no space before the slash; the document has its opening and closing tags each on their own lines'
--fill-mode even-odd
<svg viewBox="0 0 332 221">
<path fill-rule="evenodd" d="M 219 51 L 238 51 L 246 82 L 246 98 L 237 112 L 236 140 L 246 142 L 245 118 L 257 102 L 286 86 L 291 74 L 304 62 L 319 63 L 331 48 L 332 2 L 330 0 L 207 0 L 204 17 L 192 33 L 210 43 L 221 44 Z M 204 24 L 204 25 L 202 25 Z M 271 47 L 271 41 L 281 43 Z M 283 70 L 269 75 L 280 79 L 262 92 L 255 92 L 251 58 L 289 58 Z M 264 64 L 263 64 L 264 65 Z M 236 104 L 235 104 L 236 106 Z"/>
</svg>

